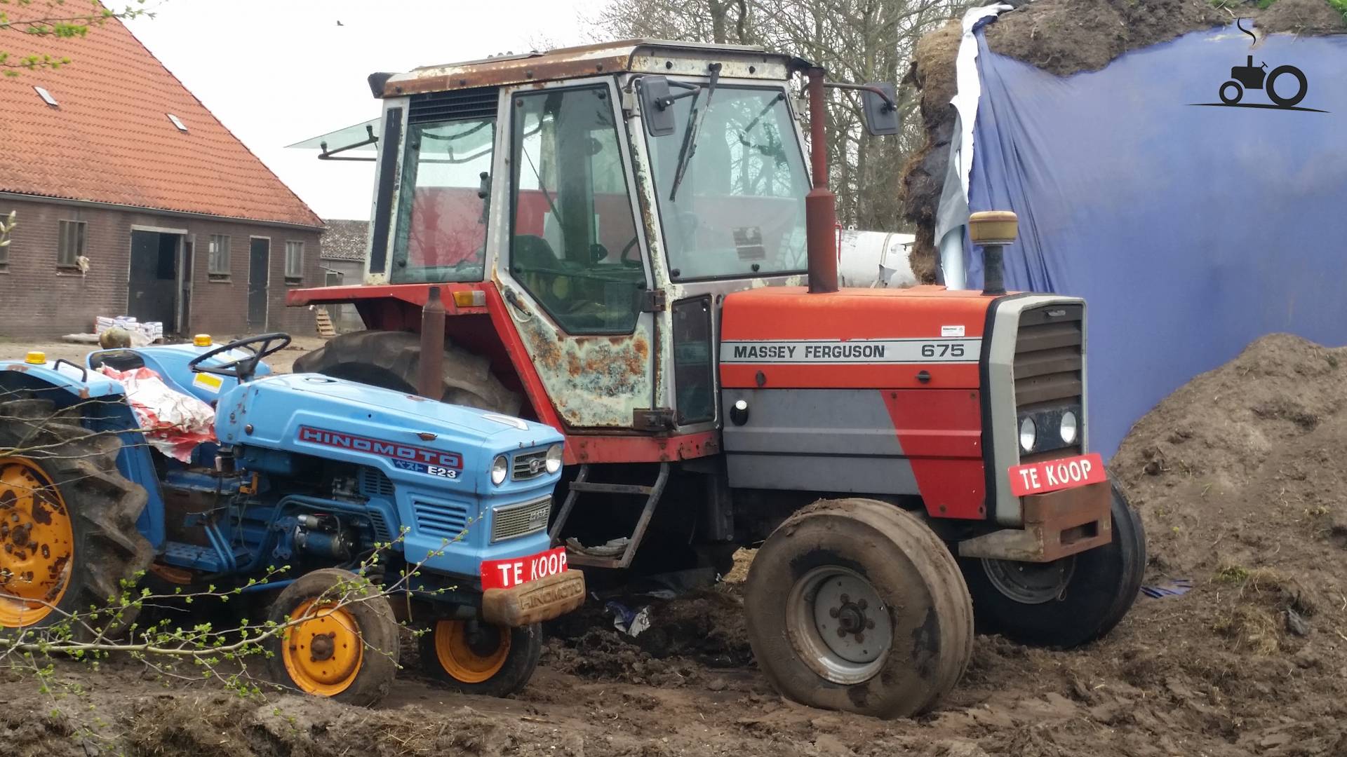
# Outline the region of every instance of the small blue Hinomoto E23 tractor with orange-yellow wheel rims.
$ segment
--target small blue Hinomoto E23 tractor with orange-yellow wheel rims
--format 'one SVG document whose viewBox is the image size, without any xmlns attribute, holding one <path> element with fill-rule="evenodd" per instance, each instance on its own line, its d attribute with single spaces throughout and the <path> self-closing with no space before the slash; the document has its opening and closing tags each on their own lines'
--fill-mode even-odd
<svg viewBox="0 0 1347 757">
<path fill-rule="evenodd" d="M 539 624 L 585 598 L 583 575 L 547 535 L 562 436 L 405 392 L 271 372 L 263 360 L 288 343 L 198 337 L 100 350 L 85 365 L 40 353 L 0 361 L 0 634 L 102 606 L 123 581 L 148 574 L 276 590 L 268 613 L 287 628 L 269 640 L 268 673 L 310 694 L 381 699 L 397 668 L 399 616 L 426 628 L 420 660 L 432 678 L 475 694 L 521 688 L 540 655 Z M 102 366 L 148 368 L 170 397 L 213 405 L 217 440 L 187 459 L 163 454 Z M 268 566 L 291 572 L 249 585 Z M 397 594 L 334 605 L 334 589 L 369 586 L 354 571 Z M 128 616 L 85 630 L 117 632 Z"/>
</svg>

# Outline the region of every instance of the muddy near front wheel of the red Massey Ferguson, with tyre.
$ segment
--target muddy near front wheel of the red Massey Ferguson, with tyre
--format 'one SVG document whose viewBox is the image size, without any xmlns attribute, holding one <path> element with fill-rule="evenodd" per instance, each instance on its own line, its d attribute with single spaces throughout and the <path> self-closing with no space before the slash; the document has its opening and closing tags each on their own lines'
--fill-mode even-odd
<svg viewBox="0 0 1347 757">
<path fill-rule="evenodd" d="M 902 718 L 932 709 L 973 655 L 973 607 L 946 546 L 874 500 L 816 502 L 758 550 L 749 644 L 784 696 Z"/>
</svg>

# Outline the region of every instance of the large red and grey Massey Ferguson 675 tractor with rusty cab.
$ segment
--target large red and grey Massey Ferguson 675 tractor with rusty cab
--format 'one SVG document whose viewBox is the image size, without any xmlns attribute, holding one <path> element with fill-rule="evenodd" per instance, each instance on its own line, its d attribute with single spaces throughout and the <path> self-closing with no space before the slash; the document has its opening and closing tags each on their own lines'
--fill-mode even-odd
<svg viewBox="0 0 1347 757">
<path fill-rule="evenodd" d="M 636 40 L 370 86 L 365 283 L 290 292 L 368 330 L 296 368 L 559 430 L 554 544 L 617 568 L 589 581 L 761 544 L 762 672 L 880 717 L 955 686 L 974 620 L 1072 647 L 1126 614 L 1145 546 L 1087 449 L 1086 307 L 999 291 L 1014 217 L 970 224 L 986 291 L 838 290 L 824 88 L 893 133 L 892 85 Z"/>
</svg>

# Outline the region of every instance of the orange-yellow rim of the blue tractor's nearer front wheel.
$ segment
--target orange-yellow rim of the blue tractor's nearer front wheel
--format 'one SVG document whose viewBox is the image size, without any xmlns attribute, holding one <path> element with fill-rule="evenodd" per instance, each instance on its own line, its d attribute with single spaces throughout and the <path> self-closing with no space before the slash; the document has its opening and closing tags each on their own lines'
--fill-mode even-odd
<svg viewBox="0 0 1347 757">
<path fill-rule="evenodd" d="M 306 618 L 286 629 L 280 647 L 290 680 L 302 691 L 319 696 L 346 691 L 365 659 L 356 618 L 331 603 L 315 606 L 313 599 L 300 602 L 290 617 Z"/>
</svg>

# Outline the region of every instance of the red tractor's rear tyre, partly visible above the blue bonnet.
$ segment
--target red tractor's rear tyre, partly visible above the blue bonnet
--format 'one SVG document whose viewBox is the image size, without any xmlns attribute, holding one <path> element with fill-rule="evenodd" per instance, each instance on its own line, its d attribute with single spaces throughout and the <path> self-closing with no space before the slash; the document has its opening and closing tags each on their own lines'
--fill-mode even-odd
<svg viewBox="0 0 1347 757">
<path fill-rule="evenodd" d="M 420 335 L 409 331 L 353 331 L 333 337 L 295 361 L 295 373 L 322 373 L 370 387 L 416 393 L 420 370 Z M 445 343 L 440 401 L 519 412 L 520 397 L 492 374 L 490 361 L 453 343 Z"/>
</svg>

